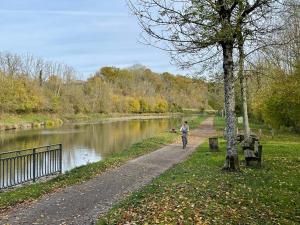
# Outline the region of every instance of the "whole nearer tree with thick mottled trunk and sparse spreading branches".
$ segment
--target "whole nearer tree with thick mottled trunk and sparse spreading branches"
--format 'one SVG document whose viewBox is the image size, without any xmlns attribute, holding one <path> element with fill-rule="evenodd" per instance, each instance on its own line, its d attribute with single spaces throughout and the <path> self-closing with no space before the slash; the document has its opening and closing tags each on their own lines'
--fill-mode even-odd
<svg viewBox="0 0 300 225">
<path fill-rule="evenodd" d="M 129 0 L 129 6 L 146 33 L 146 40 L 177 55 L 181 65 L 191 66 L 219 59 L 222 52 L 227 154 L 224 168 L 239 168 L 235 141 L 233 53 L 240 21 L 260 20 L 256 11 L 272 0 Z M 238 7 L 243 4 L 243 10 Z M 251 20 L 250 20 L 251 19 Z M 253 23 L 258 25 L 259 23 Z M 254 26 L 253 25 L 253 26 Z M 259 27 L 257 27 L 259 28 Z M 148 39 L 147 39 L 148 38 Z M 161 42 L 162 41 L 162 42 Z M 160 44 L 163 43 L 163 44 Z"/>
</svg>

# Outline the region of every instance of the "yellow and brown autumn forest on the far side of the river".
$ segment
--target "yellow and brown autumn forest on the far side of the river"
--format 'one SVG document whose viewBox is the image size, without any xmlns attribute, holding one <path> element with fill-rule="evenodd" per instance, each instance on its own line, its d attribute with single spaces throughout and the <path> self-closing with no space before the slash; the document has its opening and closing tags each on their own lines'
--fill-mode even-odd
<svg viewBox="0 0 300 225">
<path fill-rule="evenodd" d="M 135 65 L 103 67 L 79 80 L 67 65 L 0 54 L 0 112 L 164 113 L 222 108 L 222 89 L 203 79 Z M 220 100 L 221 99 L 221 100 Z"/>
</svg>

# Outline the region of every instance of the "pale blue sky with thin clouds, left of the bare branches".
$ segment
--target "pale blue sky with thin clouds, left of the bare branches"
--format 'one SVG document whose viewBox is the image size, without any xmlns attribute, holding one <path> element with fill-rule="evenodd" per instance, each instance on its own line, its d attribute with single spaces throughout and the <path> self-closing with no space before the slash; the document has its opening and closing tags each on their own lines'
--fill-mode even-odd
<svg viewBox="0 0 300 225">
<path fill-rule="evenodd" d="M 0 51 L 66 63 L 84 77 L 133 64 L 183 73 L 166 52 L 139 43 L 125 0 L 0 0 L 0 30 Z"/>
</svg>

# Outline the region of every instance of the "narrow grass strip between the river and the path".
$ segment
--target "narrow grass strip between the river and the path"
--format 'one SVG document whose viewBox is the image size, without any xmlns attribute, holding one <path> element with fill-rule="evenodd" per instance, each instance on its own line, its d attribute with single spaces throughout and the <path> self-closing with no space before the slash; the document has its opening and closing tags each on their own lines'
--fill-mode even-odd
<svg viewBox="0 0 300 225">
<path fill-rule="evenodd" d="M 190 121 L 191 127 L 196 127 L 203 120 L 199 117 Z M 41 197 L 43 194 L 53 192 L 76 183 L 89 180 L 108 168 L 120 166 L 126 161 L 154 151 L 163 145 L 173 142 L 179 134 L 163 132 L 155 137 L 145 139 L 133 144 L 130 148 L 111 155 L 103 161 L 91 163 L 75 168 L 63 175 L 46 182 L 30 184 L 15 190 L 0 193 L 0 209 L 5 210 L 24 201 L 30 201 Z"/>
</svg>

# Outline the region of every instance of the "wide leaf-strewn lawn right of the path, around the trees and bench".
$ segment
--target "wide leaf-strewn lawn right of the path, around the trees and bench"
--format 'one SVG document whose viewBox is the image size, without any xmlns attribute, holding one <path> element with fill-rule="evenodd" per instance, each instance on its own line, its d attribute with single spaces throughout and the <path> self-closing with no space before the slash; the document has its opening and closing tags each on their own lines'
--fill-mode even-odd
<svg viewBox="0 0 300 225">
<path fill-rule="evenodd" d="M 98 224 L 299 224 L 300 136 L 266 134 L 262 143 L 262 168 L 242 166 L 239 173 L 220 170 L 224 140 L 218 153 L 205 144 Z"/>
</svg>

